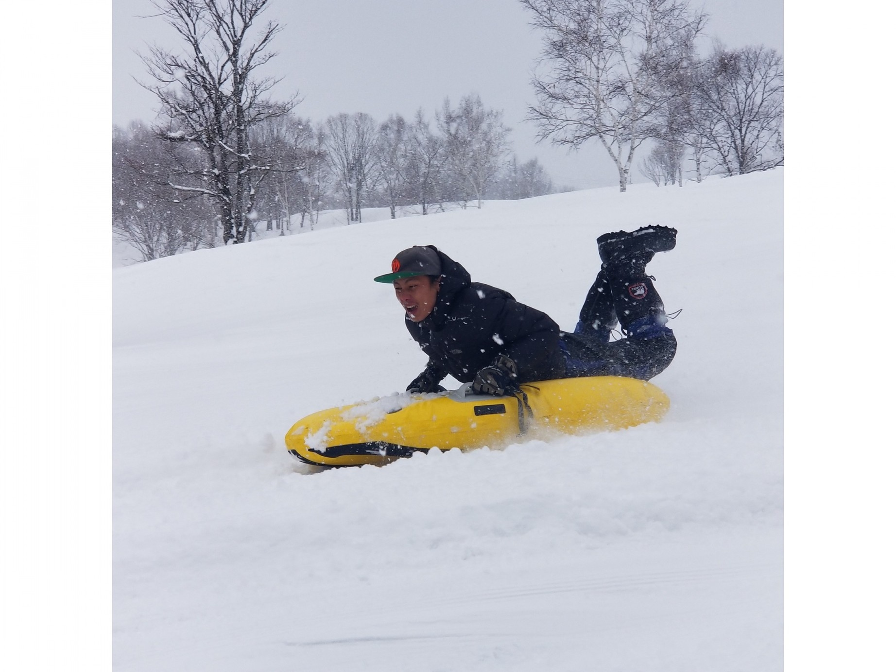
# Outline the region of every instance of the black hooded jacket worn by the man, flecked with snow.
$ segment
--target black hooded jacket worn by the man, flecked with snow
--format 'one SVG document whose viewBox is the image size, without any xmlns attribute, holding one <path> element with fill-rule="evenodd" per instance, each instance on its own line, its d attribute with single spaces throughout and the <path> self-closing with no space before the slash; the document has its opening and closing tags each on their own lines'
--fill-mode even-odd
<svg viewBox="0 0 896 672">
<path fill-rule="evenodd" d="M 517 383 L 564 377 L 560 328 L 554 320 L 518 303 L 504 289 L 470 282 L 470 273 L 460 263 L 438 254 L 442 284 L 433 312 L 421 322 L 405 320 L 438 380 L 451 374 L 470 383 L 498 355 L 516 363 Z"/>
</svg>

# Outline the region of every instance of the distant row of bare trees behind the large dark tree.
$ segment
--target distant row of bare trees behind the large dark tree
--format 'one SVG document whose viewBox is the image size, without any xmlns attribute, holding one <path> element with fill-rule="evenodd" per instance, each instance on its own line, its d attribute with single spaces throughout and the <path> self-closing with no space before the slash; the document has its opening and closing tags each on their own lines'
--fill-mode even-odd
<svg viewBox="0 0 896 672">
<path fill-rule="evenodd" d="M 181 133 L 139 122 L 113 129 L 113 226 L 143 260 L 222 238 L 214 167 Z M 475 94 L 457 107 L 445 99 L 432 118 L 422 108 L 380 123 L 366 113 L 317 123 L 286 110 L 266 116 L 246 137 L 243 240 L 260 227 L 285 234 L 293 220 L 313 227 L 324 210 L 343 209 L 359 222 L 363 208 L 388 207 L 394 218 L 556 191 L 538 159 L 512 153 L 509 134 L 502 114 Z"/>
</svg>

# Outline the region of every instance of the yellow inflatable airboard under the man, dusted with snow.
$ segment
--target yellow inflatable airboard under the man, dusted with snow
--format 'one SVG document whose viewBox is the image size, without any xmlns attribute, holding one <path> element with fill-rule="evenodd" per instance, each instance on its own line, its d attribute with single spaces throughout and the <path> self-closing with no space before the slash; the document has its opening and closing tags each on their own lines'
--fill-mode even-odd
<svg viewBox="0 0 896 672">
<path fill-rule="evenodd" d="M 470 395 L 469 387 L 318 411 L 289 429 L 287 448 L 312 464 L 385 464 L 431 448 L 500 448 L 556 433 L 623 429 L 657 421 L 669 407 L 656 385 L 613 375 L 523 384 L 531 417 L 516 397 Z"/>
</svg>

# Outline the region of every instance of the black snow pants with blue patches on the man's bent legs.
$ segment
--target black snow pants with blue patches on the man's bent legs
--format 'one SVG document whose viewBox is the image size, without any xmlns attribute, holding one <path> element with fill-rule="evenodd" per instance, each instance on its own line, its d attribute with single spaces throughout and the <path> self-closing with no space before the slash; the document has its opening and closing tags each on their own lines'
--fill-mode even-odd
<svg viewBox="0 0 896 672">
<path fill-rule="evenodd" d="M 650 380 L 675 357 L 675 334 L 643 263 L 605 264 L 588 292 L 575 332 L 560 332 L 566 377 L 621 375 Z M 624 339 L 610 340 L 619 324 Z"/>
</svg>

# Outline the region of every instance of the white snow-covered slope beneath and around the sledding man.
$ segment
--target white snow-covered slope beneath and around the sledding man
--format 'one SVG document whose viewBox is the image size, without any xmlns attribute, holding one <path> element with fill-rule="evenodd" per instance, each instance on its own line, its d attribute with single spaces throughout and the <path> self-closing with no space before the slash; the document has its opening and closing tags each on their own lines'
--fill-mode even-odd
<svg viewBox="0 0 896 672">
<path fill-rule="evenodd" d="M 782 668 L 782 211 L 777 169 L 113 271 L 116 672 Z M 647 224 L 679 231 L 649 267 L 684 308 L 663 422 L 384 468 L 286 452 L 299 418 L 386 412 L 425 365 L 372 281 L 398 250 L 571 330 L 595 238 Z"/>
</svg>

